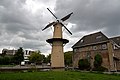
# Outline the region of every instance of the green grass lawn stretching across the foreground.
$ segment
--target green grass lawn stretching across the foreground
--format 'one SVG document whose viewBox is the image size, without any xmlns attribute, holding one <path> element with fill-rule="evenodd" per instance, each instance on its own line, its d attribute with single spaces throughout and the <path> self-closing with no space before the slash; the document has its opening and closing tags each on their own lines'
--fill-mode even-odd
<svg viewBox="0 0 120 80">
<path fill-rule="evenodd" d="M 0 73 L 0 80 L 120 80 L 120 75 L 76 71 L 7 72 Z"/>
</svg>

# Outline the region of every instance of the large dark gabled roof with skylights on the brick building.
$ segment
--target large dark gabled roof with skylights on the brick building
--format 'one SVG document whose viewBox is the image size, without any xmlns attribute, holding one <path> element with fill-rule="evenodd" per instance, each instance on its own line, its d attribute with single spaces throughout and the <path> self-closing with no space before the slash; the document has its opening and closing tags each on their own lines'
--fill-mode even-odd
<svg viewBox="0 0 120 80">
<path fill-rule="evenodd" d="M 88 45 L 94 45 L 98 43 L 103 43 L 109 41 L 101 31 L 93 34 L 83 36 L 77 43 L 75 43 L 72 48 L 84 47 Z"/>
</svg>

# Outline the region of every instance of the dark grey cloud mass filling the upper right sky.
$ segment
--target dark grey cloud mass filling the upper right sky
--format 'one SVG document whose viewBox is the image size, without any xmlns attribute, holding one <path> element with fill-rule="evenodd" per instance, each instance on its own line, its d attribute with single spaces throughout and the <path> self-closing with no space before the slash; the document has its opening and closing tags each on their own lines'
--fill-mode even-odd
<svg viewBox="0 0 120 80">
<path fill-rule="evenodd" d="M 70 19 L 71 23 L 76 24 L 71 29 L 74 33 L 106 29 L 106 33 L 109 34 L 113 27 L 116 28 L 113 31 L 118 32 L 117 30 L 119 30 L 119 7 L 119 0 L 57 0 L 56 13 L 60 15 L 71 11 L 74 12 L 72 19 Z M 111 35 L 113 34 L 111 33 Z"/>
</svg>

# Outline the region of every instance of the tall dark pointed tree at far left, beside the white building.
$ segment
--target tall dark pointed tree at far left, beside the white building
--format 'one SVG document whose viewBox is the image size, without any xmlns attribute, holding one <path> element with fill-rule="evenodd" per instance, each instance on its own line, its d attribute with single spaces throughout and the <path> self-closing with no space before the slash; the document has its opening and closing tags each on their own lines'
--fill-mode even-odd
<svg viewBox="0 0 120 80">
<path fill-rule="evenodd" d="M 14 55 L 14 62 L 16 64 L 20 64 L 20 62 L 23 60 L 24 60 L 24 52 L 22 47 L 20 47 Z"/>
</svg>

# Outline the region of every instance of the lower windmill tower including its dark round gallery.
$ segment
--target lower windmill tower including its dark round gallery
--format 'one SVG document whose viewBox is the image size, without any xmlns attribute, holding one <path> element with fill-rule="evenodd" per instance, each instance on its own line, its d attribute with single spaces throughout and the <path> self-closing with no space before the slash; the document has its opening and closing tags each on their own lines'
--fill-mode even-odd
<svg viewBox="0 0 120 80">
<path fill-rule="evenodd" d="M 51 51 L 51 69 L 65 70 L 63 46 L 69 41 L 62 38 L 51 38 L 46 40 L 52 46 Z"/>
</svg>

